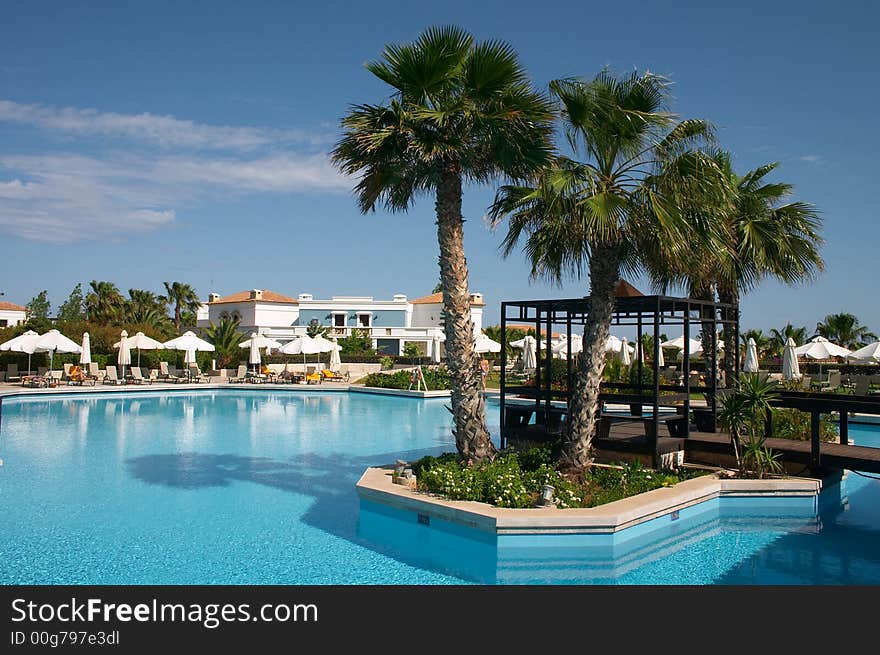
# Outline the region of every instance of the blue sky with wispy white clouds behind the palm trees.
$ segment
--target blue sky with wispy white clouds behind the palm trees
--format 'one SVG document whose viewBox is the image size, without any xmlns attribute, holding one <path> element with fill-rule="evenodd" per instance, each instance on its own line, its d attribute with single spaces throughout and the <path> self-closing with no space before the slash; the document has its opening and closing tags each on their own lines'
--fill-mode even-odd
<svg viewBox="0 0 880 655">
<path fill-rule="evenodd" d="M 0 22 L 0 291 L 57 307 L 77 282 L 200 295 L 410 297 L 438 279 L 430 198 L 406 214 L 358 213 L 327 163 L 339 118 L 388 88 L 363 64 L 432 24 L 510 42 L 535 83 L 651 70 L 673 109 L 718 129 L 737 170 L 780 162 L 824 220 L 827 270 L 765 282 L 743 327 L 813 328 L 873 302 L 880 63 L 870 2 L 28 2 Z M 465 249 L 487 323 L 501 300 L 580 296 L 530 282 L 467 189 Z M 643 290 L 647 285 L 635 281 Z"/>
</svg>

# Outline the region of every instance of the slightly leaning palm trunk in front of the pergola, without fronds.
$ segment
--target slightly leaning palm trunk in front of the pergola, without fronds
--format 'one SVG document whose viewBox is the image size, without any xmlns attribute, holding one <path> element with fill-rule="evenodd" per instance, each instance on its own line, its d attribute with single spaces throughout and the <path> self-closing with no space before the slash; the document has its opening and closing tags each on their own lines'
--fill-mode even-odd
<svg viewBox="0 0 880 655">
<path fill-rule="evenodd" d="M 599 421 L 599 385 L 605 370 L 605 343 L 614 313 L 614 285 L 620 277 L 620 255 L 614 246 L 599 246 L 590 258 L 590 311 L 584 325 L 583 352 L 568 407 L 568 429 L 562 461 L 577 470 L 592 461 L 593 437 Z"/>
</svg>

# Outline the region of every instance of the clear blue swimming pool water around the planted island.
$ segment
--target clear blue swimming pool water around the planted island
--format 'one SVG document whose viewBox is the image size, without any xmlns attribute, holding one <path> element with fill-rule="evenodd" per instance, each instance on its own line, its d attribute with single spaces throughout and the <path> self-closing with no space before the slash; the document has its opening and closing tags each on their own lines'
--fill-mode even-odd
<svg viewBox="0 0 880 655">
<path fill-rule="evenodd" d="M 452 449 L 447 403 L 286 390 L 4 399 L 0 583 L 880 583 L 880 481 L 854 473 L 811 505 L 724 499 L 604 541 L 496 540 L 360 508 L 367 466 Z M 875 426 L 850 434 L 880 445 Z"/>
</svg>

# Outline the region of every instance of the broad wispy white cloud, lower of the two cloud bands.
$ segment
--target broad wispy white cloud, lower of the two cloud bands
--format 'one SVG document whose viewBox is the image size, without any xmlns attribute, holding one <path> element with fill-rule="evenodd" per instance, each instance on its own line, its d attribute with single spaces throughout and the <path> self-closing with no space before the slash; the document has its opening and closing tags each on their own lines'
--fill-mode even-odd
<svg viewBox="0 0 880 655">
<path fill-rule="evenodd" d="M 10 171 L 12 179 L 3 180 Z M 0 154 L 0 232 L 52 243 L 116 238 L 173 223 L 218 194 L 341 192 L 326 156 L 251 159 Z"/>
</svg>

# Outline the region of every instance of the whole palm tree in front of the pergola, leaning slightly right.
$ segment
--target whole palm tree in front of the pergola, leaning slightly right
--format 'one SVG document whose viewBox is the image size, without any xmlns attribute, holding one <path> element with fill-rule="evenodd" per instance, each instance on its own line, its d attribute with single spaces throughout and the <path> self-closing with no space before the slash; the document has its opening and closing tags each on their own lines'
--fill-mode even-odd
<svg viewBox="0 0 880 655">
<path fill-rule="evenodd" d="M 673 256 L 707 238 L 700 235 L 710 224 L 684 214 L 682 201 L 685 194 L 714 195 L 720 176 L 711 157 L 694 149 L 711 136 L 709 125 L 677 122 L 666 110 L 664 78 L 618 79 L 603 71 L 592 81 L 555 80 L 550 88 L 562 103 L 569 144 L 586 161 L 559 157 L 536 185 L 502 187 L 490 217 L 495 225 L 509 219 L 505 256 L 525 238 L 533 277 L 589 275 L 584 350 L 563 440 L 564 461 L 580 469 L 590 463 L 615 284 L 621 272 L 636 272 L 656 244 Z"/>
</svg>

